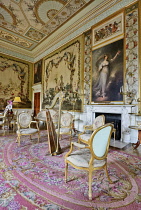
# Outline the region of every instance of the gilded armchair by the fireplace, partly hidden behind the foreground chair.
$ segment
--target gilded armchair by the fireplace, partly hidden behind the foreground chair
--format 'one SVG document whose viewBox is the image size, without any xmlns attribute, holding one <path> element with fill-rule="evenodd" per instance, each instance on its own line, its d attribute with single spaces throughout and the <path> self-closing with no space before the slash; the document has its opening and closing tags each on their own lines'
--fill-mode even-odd
<svg viewBox="0 0 141 210">
<path fill-rule="evenodd" d="M 91 138 L 91 133 L 104 124 L 105 116 L 99 115 L 94 119 L 93 125 L 84 125 L 84 132 L 78 135 L 78 143 L 83 142 L 85 144 L 88 144 Z M 91 131 L 91 133 L 87 133 L 87 131 Z"/>
</svg>

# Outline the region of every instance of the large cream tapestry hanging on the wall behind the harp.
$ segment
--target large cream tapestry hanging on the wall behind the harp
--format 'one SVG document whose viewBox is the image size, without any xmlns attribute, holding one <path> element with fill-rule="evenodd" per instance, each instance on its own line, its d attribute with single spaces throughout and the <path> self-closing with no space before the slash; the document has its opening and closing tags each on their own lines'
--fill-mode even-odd
<svg viewBox="0 0 141 210">
<path fill-rule="evenodd" d="M 43 104 L 50 106 L 63 91 L 63 110 L 82 110 L 83 36 L 66 44 L 44 60 Z"/>
</svg>

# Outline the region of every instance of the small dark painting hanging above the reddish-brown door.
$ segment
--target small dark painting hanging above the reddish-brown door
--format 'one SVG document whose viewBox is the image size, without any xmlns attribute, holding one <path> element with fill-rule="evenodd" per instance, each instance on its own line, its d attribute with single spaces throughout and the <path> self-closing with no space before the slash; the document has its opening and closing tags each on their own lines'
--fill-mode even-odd
<svg viewBox="0 0 141 210">
<path fill-rule="evenodd" d="M 34 64 L 34 84 L 42 81 L 42 60 Z"/>
</svg>

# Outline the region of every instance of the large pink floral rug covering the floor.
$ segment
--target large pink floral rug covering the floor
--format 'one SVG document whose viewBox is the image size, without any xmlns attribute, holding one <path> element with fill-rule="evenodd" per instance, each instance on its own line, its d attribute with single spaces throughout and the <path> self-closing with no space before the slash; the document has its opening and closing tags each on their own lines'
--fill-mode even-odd
<svg viewBox="0 0 141 210">
<path fill-rule="evenodd" d="M 69 166 L 64 181 L 64 155 L 69 140 L 60 141 L 62 153 L 51 156 L 47 134 L 30 140 L 16 136 L 0 137 L 0 209 L 1 210 L 141 210 L 141 158 L 111 150 L 108 171 L 93 174 L 93 199 L 88 199 L 88 175 Z M 76 141 L 77 139 L 74 139 Z"/>
</svg>

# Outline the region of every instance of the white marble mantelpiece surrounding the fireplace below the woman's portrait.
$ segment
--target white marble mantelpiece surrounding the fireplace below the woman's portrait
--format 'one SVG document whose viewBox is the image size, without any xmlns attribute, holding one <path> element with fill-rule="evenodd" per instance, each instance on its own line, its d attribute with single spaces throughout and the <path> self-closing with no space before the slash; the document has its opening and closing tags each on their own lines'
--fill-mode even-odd
<svg viewBox="0 0 141 210">
<path fill-rule="evenodd" d="M 121 139 L 122 142 L 135 143 L 138 139 L 137 131 L 129 129 L 130 125 L 135 125 L 135 115 L 131 114 L 137 112 L 136 105 L 85 105 L 83 113 L 79 113 L 79 121 L 76 126 L 79 131 L 83 131 L 84 125 L 93 123 L 95 113 L 114 113 L 121 114 Z"/>
</svg>

